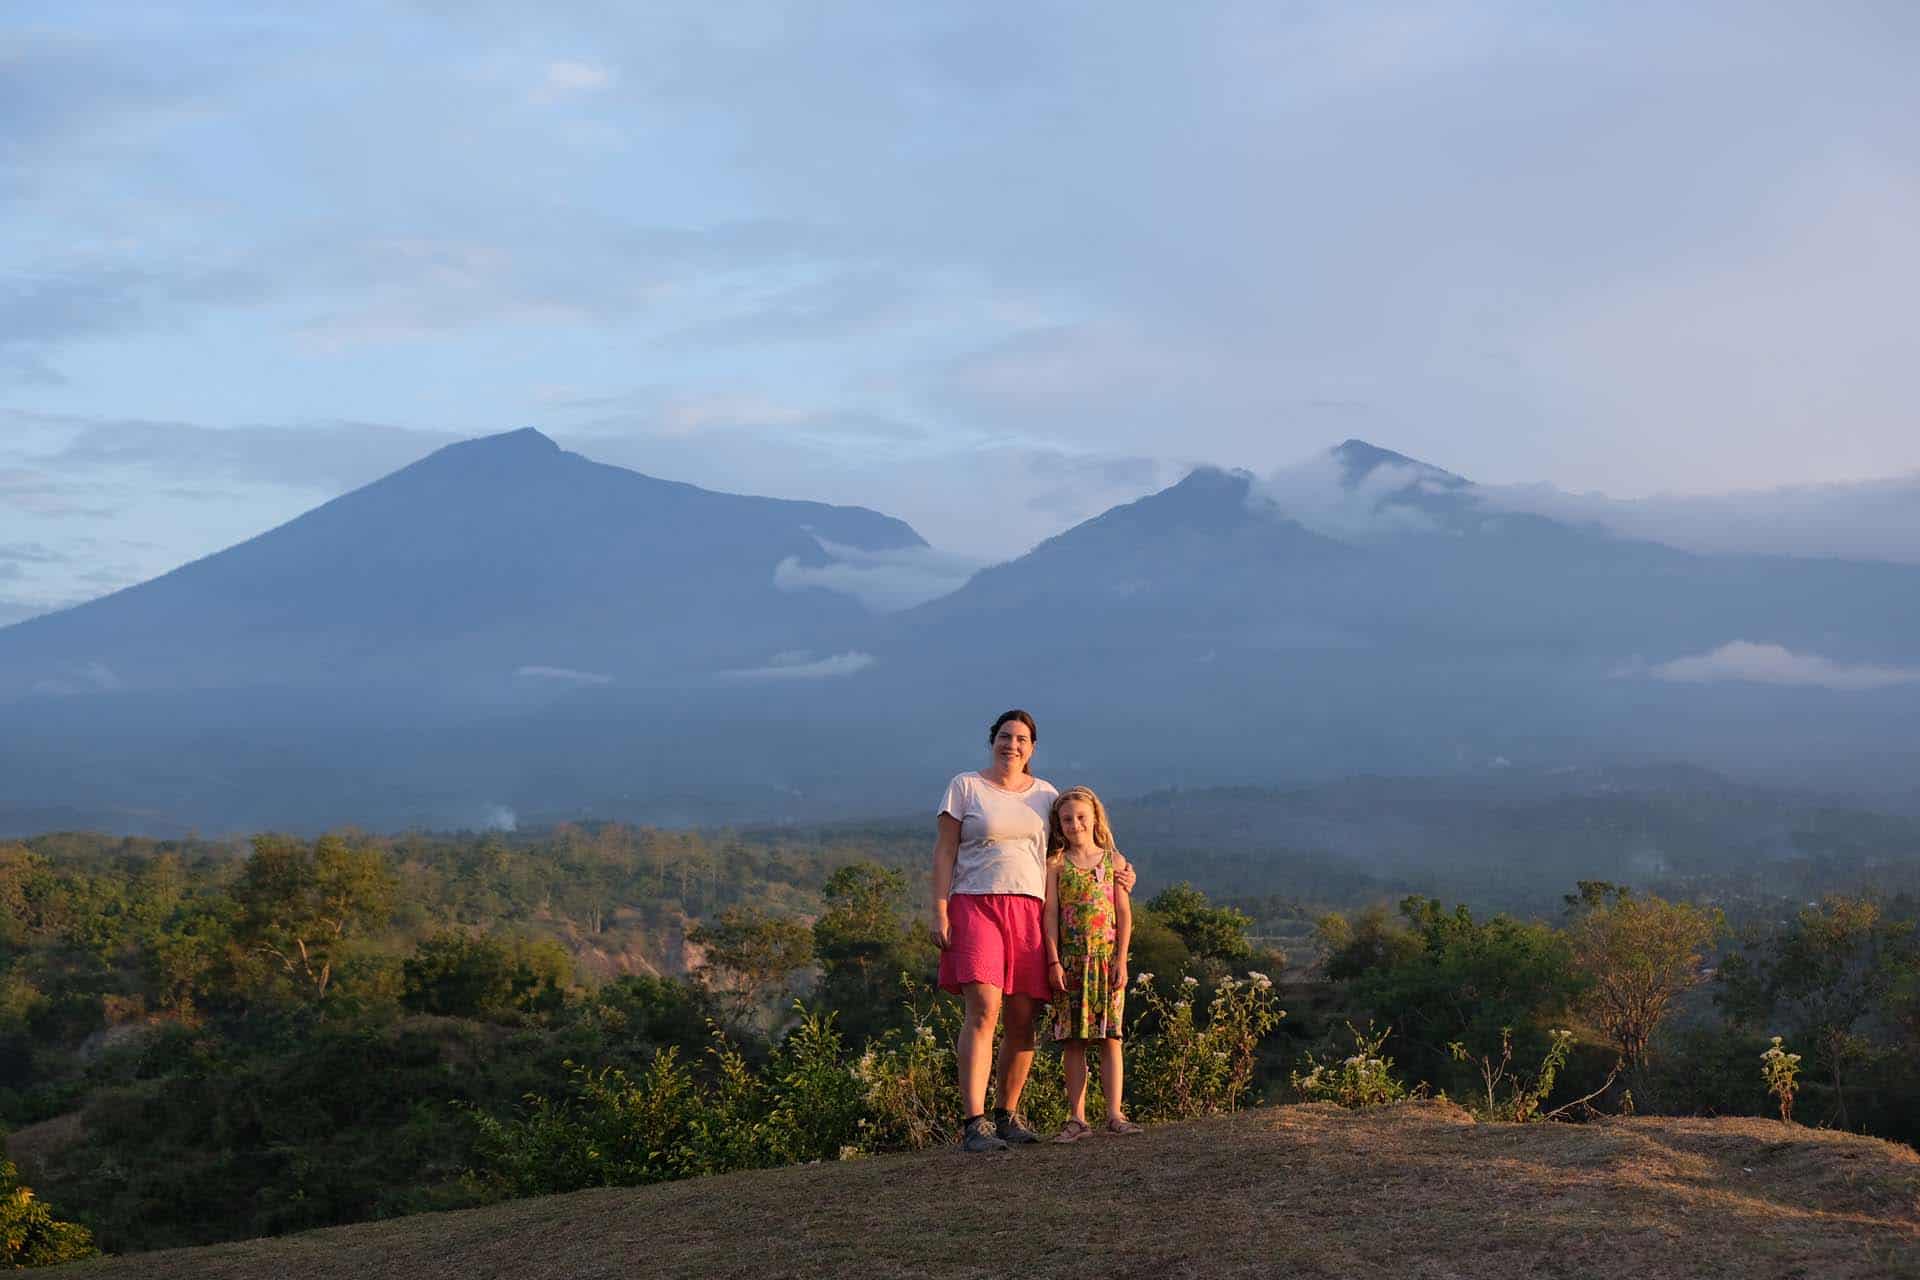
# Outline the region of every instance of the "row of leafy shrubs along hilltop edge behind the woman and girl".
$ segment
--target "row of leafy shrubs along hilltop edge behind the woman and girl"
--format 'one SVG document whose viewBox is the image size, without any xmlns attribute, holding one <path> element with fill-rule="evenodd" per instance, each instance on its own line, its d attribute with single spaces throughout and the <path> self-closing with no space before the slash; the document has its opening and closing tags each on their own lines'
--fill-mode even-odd
<svg viewBox="0 0 1920 1280">
<path fill-rule="evenodd" d="M 1127 1077 L 1131 1109 L 1144 1119 L 1233 1109 L 1252 1084 L 1261 1038 L 1284 1017 L 1273 983 L 1260 973 L 1221 983 L 1204 1025 L 1194 1019 L 1196 990 L 1183 983 L 1169 1002 L 1154 992 L 1150 973 L 1140 975 L 1135 994 L 1144 1013 L 1135 1029 L 1146 1023 L 1152 1031 L 1127 1042 Z M 829 1015 L 801 1009 L 760 1069 L 718 1029 L 703 1065 L 662 1050 L 632 1075 L 572 1067 L 564 1092 L 530 1094 L 516 1115 L 470 1113 L 478 1128 L 472 1178 L 534 1196 L 952 1142 L 962 1011 L 958 1002 L 918 988 L 908 998 L 908 1025 L 852 1057 Z M 1021 1111 L 1050 1132 L 1066 1123 L 1066 1090 L 1044 1011 L 1035 1042 Z M 1098 1054 L 1091 1057 L 1098 1071 Z M 1087 1105 L 1104 1109 L 1092 1084 Z"/>
</svg>

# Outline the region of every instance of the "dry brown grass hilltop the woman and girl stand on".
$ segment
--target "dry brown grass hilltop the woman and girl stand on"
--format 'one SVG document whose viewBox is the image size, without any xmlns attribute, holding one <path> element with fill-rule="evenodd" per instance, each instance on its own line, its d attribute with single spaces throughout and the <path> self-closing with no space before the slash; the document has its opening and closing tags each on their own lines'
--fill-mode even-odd
<svg viewBox="0 0 1920 1280">
<path fill-rule="evenodd" d="M 65 1274 L 65 1272 L 63 1272 Z M 1920 1276 L 1920 1155 L 1774 1121 L 1271 1107 L 113 1259 L 140 1280 Z"/>
</svg>

